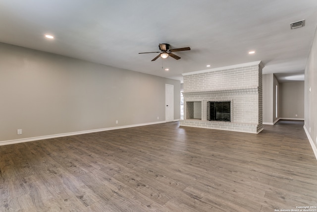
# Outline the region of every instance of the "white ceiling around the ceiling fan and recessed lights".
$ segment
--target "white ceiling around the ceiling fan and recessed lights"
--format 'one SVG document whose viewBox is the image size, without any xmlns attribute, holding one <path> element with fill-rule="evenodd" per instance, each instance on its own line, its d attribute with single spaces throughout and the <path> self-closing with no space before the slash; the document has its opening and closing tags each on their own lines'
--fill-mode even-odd
<svg viewBox="0 0 317 212">
<path fill-rule="evenodd" d="M 316 26 L 316 0 L 0 0 L 2 43 L 180 80 L 254 61 L 298 80 L 285 76 L 304 73 Z M 191 51 L 155 62 L 157 53 L 138 54 L 159 43 Z"/>
</svg>

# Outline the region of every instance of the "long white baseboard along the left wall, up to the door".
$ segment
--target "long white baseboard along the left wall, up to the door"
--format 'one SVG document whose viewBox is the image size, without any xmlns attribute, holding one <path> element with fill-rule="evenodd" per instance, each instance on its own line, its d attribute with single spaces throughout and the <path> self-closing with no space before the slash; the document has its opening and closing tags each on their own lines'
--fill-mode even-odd
<svg viewBox="0 0 317 212">
<path fill-rule="evenodd" d="M 10 141 L 0 141 L 0 145 L 22 143 L 22 142 L 28 142 L 28 141 L 39 141 L 44 139 L 53 139 L 53 138 L 66 137 L 66 136 L 76 136 L 76 135 L 87 134 L 87 133 L 97 133 L 97 132 L 108 131 L 108 130 L 118 130 L 118 129 L 124 129 L 124 128 L 140 127 L 145 125 L 154 125 L 154 124 L 161 124 L 161 123 L 165 123 L 165 121 L 150 122 L 150 123 L 143 123 L 143 124 L 136 124 L 136 125 L 126 125 L 126 126 L 103 128 L 103 129 L 96 129 L 96 130 L 86 130 L 86 131 L 79 131 L 79 132 L 73 132 L 73 133 L 62 133 L 62 134 L 55 134 L 50 136 L 39 136 L 39 137 L 17 139 L 17 140 L 10 140 Z"/>
</svg>

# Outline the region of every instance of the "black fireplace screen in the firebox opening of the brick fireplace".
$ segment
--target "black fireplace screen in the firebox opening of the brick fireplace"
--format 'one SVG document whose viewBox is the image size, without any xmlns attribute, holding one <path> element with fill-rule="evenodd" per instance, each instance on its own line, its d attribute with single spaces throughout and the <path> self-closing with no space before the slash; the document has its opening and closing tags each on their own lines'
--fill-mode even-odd
<svg viewBox="0 0 317 212">
<path fill-rule="evenodd" d="M 209 121 L 231 121 L 230 101 L 207 102 L 207 120 Z"/>
</svg>

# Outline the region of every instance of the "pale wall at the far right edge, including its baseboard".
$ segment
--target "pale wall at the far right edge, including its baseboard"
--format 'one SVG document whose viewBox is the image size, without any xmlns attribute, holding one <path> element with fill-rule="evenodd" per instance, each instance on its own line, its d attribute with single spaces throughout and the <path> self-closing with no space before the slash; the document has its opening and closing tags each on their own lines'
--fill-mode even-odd
<svg viewBox="0 0 317 212">
<path fill-rule="evenodd" d="M 317 29 L 305 69 L 304 129 L 317 157 Z"/>
</svg>

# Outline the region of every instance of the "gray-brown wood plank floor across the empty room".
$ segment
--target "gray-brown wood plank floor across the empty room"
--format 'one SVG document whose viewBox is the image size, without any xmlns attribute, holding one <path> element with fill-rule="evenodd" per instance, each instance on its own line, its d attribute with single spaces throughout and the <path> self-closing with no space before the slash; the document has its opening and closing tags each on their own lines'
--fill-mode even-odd
<svg viewBox="0 0 317 212">
<path fill-rule="evenodd" d="M 172 122 L 0 146 L 1 212 L 274 212 L 316 200 L 302 121 L 260 134 Z"/>
</svg>

